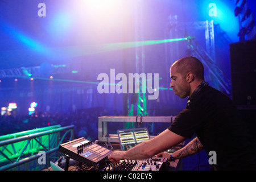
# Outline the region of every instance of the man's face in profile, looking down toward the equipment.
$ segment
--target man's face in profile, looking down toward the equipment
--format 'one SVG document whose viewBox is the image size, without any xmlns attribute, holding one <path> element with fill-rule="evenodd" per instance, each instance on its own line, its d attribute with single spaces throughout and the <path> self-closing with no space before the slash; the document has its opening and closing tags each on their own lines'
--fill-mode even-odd
<svg viewBox="0 0 256 182">
<path fill-rule="evenodd" d="M 190 86 L 185 80 L 185 76 L 176 72 L 176 65 L 173 65 L 170 69 L 171 84 L 170 87 L 174 90 L 174 93 L 180 98 L 189 96 Z"/>
</svg>

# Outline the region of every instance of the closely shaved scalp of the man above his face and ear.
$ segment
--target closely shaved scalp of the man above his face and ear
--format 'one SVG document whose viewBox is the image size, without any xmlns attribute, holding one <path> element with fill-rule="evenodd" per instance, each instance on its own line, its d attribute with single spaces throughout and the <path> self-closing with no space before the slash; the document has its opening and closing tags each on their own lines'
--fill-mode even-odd
<svg viewBox="0 0 256 182">
<path fill-rule="evenodd" d="M 204 66 L 199 59 L 193 56 L 181 57 L 175 61 L 172 67 L 176 67 L 176 71 L 182 76 L 191 72 L 196 80 L 204 80 Z"/>
</svg>

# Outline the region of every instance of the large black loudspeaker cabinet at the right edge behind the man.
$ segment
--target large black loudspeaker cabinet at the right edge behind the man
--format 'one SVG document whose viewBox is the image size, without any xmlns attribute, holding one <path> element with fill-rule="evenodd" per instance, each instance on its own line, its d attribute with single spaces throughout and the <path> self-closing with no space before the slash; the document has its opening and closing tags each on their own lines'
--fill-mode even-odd
<svg viewBox="0 0 256 182">
<path fill-rule="evenodd" d="M 256 105 L 256 40 L 229 46 L 232 99 L 236 105 Z"/>
</svg>

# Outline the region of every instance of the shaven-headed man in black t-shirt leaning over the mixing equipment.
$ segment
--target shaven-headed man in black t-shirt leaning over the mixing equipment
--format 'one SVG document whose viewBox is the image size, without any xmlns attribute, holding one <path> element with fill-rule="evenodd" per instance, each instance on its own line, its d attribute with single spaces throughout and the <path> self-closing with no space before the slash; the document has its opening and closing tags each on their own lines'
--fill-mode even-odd
<svg viewBox="0 0 256 182">
<path fill-rule="evenodd" d="M 193 56 L 183 57 L 170 68 L 171 88 L 180 98 L 188 97 L 187 107 L 171 126 L 153 139 L 128 151 L 113 151 L 110 161 L 142 160 L 154 155 L 168 160 L 196 154 L 204 148 L 216 154 L 217 170 L 256 170 L 256 155 L 245 123 L 233 102 L 204 82 L 203 64 Z M 166 150 L 193 139 L 187 146 L 170 155 Z"/>
</svg>

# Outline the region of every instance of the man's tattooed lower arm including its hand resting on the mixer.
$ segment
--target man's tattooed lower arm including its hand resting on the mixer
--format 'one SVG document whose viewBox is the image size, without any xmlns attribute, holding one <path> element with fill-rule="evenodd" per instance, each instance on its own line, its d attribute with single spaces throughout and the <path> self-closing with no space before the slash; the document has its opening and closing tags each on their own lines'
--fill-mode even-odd
<svg viewBox="0 0 256 182">
<path fill-rule="evenodd" d="M 196 137 L 191 142 L 189 142 L 185 147 L 180 148 L 180 150 L 175 151 L 172 156 L 174 159 L 181 159 L 185 158 L 187 156 L 191 156 L 193 154 L 196 154 L 197 152 L 200 152 L 204 149 L 203 144 L 199 141 L 199 139 Z M 170 154 L 168 152 L 162 152 L 157 155 L 158 157 L 164 157 L 170 159 Z"/>
</svg>

